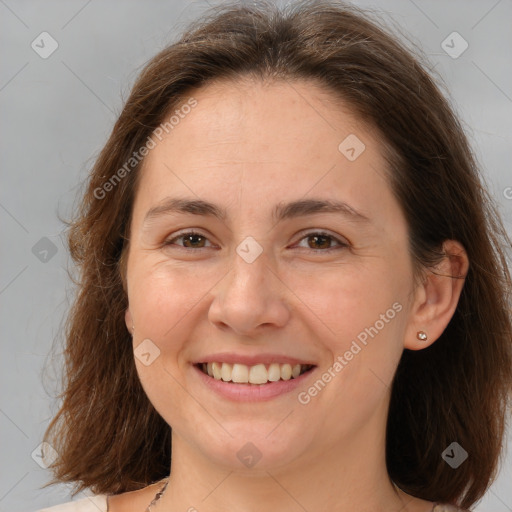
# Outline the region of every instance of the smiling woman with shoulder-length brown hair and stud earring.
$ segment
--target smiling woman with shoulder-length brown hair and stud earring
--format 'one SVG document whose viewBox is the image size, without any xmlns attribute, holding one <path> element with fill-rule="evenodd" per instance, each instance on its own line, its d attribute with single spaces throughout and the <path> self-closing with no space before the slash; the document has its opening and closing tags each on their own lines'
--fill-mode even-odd
<svg viewBox="0 0 512 512">
<path fill-rule="evenodd" d="M 71 225 L 45 441 L 96 496 L 54 510 L 468 509 L 510 240 L 457 119 L 355 8 L 210 14 L 143 70 Z"/>
</svg>

